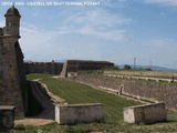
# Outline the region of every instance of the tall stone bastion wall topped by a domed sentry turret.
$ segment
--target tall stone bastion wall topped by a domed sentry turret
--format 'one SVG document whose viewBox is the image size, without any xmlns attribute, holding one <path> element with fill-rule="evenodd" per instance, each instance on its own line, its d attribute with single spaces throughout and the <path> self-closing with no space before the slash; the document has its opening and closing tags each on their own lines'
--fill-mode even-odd
<svg viewBox="0 0 177 133">
<path fill-rule="evenodd" d="M 12 6 L 4 17 L 6 27 L 0 28 L 0 105 L 13 105 L 15 117 L 24 117 L 28 90 L 23 53 L 18 41 L 21 16 Z"/>
</svg>

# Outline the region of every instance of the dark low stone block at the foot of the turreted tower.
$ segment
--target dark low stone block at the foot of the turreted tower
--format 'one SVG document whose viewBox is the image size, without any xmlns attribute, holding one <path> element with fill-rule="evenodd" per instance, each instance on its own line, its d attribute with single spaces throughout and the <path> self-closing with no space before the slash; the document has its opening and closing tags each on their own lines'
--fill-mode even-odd
<svg viewBox="0 0 177 133">
<path fill-rule="evenodd" d="M 14 125 L 14 106 L 0 105 L 0 132 L 12 129 Z"/>
</svg>

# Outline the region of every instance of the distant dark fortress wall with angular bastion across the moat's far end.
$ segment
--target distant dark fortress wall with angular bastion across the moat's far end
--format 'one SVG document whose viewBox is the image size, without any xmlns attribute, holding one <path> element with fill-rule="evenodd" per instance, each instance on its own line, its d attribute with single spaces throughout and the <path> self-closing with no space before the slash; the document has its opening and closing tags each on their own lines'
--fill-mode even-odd
<svg viewBox="0 0 177 133">
<path fill-rule="evenodd" d="M 58 62 L 25 62 L 27 73 L 50 73 L 66 76 L 70 72 L 100 70 L 113 66 L 114 63 L 106 61 L 67 60 L 64 63 Z"/>
</svg>

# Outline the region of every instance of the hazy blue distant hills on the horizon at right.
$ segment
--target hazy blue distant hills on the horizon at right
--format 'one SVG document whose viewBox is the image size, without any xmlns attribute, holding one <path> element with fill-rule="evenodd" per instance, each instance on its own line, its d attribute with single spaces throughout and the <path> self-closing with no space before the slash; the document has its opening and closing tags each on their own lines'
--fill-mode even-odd
<svg viewBox="0 0 177 133">
<path fill-rule="evenodd" d="M 119 69 L 123 69 L 125 64 L 117 65 Z M 131 68 L 133 69 L 134 65 L 131 64 Z M 136 69 L 152 69 L 153 71 L 177 71 L 177 69 L 169 69 L 165 66 L 156 66 L 156 65 L 136 65 Z"/>
</svg>

